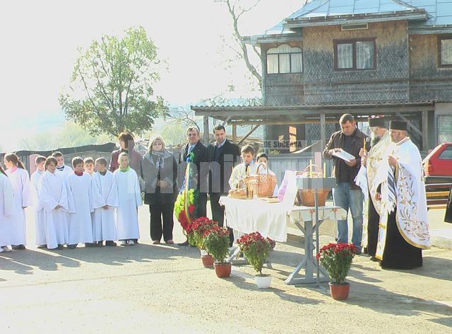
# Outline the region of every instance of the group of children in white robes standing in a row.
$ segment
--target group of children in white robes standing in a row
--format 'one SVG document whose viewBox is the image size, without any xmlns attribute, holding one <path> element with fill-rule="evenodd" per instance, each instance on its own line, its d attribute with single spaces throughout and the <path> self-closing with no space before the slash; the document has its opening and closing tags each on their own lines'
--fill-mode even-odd
<svg viewBox="0 0 452 334">
<path fill-rule="evenodd" d="M 6 154 L 6 171 L 0 167 L 0 253 L 11 251 L 8 246 L 25 249 L 28 206 L 33 206 L 39 248 L 102 246 L 103 241 L 116 246 L 115 240 L 121 246 L 135 244 L 142 204 L 138 175 L 127 154 L 118 160 L 114 173 L 104 158 L 76 157 L 72 169 L 61 152 L 54 152 L 35 159 L 37 170 L 30 178 L 16 154 Z"/>
</svg>

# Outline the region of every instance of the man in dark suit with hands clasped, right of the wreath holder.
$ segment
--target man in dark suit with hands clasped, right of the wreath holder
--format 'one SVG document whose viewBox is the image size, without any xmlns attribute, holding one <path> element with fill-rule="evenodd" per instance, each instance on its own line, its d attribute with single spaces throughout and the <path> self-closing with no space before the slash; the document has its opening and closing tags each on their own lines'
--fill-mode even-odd
<svg viewBox="0 0 452 334">
<path fill-rule="evenodd" d="M 225 127 L 216 125 L 213 128 L 215 142 L 207 146 L 207 160 L 209 162 L 209 195 L 212 219 L 223 226 L 225 219 L 225 207 L 218 204 L 220 196 L 227 196 L 230 190 L 228 183 L 232 168 L 240 159 L 240 149 L 226 139 Z M 234 235 L 230 229 L 230 245 L 234 242 Z"/>
</svg>

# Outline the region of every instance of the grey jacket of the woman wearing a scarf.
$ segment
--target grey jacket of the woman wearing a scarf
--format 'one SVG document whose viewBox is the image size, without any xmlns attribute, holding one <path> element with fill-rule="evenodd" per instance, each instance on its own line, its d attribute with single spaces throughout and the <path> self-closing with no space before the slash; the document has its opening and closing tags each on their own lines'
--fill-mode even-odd
<svg viewBox="0 0 452 334">
<path fill-rule="evenodd" d="M 163 153 L 163 166 L 160 173 L 157 170 L 158 157 L 146 153 L 141 161 L 141 178 L 144 180 L 145 197 L 147 205 L 167 204 L 174 202 L 177 195 L 177 161 L 169 151 Z M 165 180 L 169 187 L 157 187 L 157 180 Z"/>
</svg>

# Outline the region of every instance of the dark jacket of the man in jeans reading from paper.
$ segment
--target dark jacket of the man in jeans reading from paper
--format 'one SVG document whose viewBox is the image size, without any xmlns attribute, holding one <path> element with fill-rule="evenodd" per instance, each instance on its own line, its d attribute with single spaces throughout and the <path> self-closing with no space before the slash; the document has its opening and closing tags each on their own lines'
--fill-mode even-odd
<svg viewBox="0 0 452 334">
<path fill-rule="evenodd" d="M 360 189 L 358 185 L 355 183 L 356 175 L 359 171 L 359 168 L 361 168 L 361 158 L 359 157 L 359 151 L 362 149 L 363 146 L 363 139 L 367 139 L 367 136 L 362 133 L 358 128 L 355 130 L 355 132 L 352 134 L 352 151 L 350 154 L 356 157 L 357 163 L 355 166 L 350 167 L 347 166 L 345 163 L 340 164 L 340 159 L 335 158 L 333 156 L 333 149 L 343 149 L 344 148 L 344 138 L 345 134 L 343 134 L 342 131 L 334 132 L 331 134 L 331 138 L 328 141 L 328 144 L 326 144 L 325 149 L 323 149 L 323 158 L 325 159 L 333 159 L 334 165 L 333 165 L 333 171 L 331 172 L 331 176 L 335 176 L 338 178 L 338 175 L 340 173 L 339 169 L 340 166 L 344 166 L 345 168 L 350 168 L 350 188 L 352 189 Z M 369 151 L 370 149 L 370 143 L 366 142 L 366 149 Z"/>
</svg>

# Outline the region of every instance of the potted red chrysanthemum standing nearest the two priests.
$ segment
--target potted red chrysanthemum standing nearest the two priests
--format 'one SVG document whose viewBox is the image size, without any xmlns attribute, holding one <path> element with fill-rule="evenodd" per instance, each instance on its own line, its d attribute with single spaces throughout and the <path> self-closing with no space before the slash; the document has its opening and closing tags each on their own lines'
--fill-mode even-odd
<svg viewBox="0 0 452 334">
<path fill-rule="evenodd" d="M 330 293 L 333 299 L 348 298 L 350 284 L 345 282 L 345 277 L 356 254 L 357 249 L 352 243 L 328 243 L 317 253 L 317 260 L 330 276 Z"/>
</svg>

